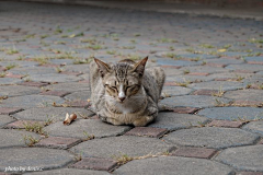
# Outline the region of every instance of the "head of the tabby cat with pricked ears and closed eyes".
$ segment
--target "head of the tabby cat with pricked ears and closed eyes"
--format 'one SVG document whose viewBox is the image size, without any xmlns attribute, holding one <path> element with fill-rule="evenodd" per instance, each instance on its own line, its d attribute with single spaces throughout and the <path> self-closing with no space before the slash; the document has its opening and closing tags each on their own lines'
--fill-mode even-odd
<svg viewBox="0 0 263 175">
<path fill-rule="evenodd" d="M 116 65 L 107 65 L 95 59 L 105 88 L 105 98 L 118 103 L 136 96 L 141 89 L 141 79 L 147 57 L 139 62 L 124 60 Z"/>
</svg>

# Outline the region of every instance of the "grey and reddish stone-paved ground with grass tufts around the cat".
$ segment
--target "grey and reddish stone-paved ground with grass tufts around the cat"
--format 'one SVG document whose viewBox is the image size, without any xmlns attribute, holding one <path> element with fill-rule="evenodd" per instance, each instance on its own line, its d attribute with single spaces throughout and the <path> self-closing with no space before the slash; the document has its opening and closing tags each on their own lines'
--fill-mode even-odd
<svg viewBox="0 0 263 175">
<path fill-rule="evenodd" d="M 263 174 L 263 22 L 0 2 L 0 175 Z M 89 110 L 93 56 L 164 69 L 153 124 Z"/>
</svg>

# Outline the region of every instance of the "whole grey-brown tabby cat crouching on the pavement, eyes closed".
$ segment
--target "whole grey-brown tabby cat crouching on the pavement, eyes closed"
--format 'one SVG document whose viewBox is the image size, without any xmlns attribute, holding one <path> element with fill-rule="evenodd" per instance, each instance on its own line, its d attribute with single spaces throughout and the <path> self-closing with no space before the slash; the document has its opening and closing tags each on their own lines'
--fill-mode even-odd
<svg viewBox="0 0 263 175">
<path fill-rule="evenodd" d="M 161 68 L 147 68 L 148 57 L 90 63 L 91 102 L 96 115 L 113 125 L 146 126 L 158 115 L 158 100 L 165 79 Z"/>
</svg>

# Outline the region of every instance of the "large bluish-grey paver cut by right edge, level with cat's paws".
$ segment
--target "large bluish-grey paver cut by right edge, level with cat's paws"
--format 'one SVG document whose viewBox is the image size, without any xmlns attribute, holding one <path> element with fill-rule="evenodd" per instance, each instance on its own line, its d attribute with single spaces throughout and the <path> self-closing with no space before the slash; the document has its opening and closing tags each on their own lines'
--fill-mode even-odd
<svg viewBox="0 0 263 175">
<path fill-rule="evenodd" d="M 213 107 L 198 112 L 198 115 L 213 119 L 237 120 L 263 118 L 263 109 L 254 107 Z"/>
</svg>

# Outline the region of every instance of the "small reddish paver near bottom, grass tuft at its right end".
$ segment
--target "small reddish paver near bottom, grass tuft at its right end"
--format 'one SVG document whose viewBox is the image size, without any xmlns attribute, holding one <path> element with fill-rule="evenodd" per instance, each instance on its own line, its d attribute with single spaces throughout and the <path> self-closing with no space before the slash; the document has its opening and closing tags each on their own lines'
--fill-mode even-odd
<svg viewBox="0 0 263 175">
<path fill-rule="evenodd" d="M 112 171 L 117 166 L 117 162 L 107 159 L 100 158 L 83 158 L 81 161 L 75 163 L 70 167 L 75 168 L 88 168 L 95 171 Z"/>
</svg>

